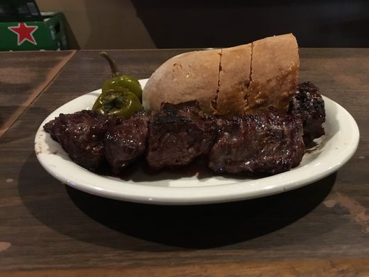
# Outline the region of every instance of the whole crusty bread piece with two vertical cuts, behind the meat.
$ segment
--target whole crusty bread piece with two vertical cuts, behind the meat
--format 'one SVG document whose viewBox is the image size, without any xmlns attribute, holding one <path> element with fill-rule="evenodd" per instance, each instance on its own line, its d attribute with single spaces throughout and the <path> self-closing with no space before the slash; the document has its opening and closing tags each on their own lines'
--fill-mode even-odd
<svg viewBox="0 0 369 277">
<path fill-rule="evenodd" d="M 204 111 L 234 116 L 287 111 L 298 83 L 292 34 L 231 48 L 192 51 L 159 66 L 143 89 L 143 107 L 197 100 Z"/>
</svg>

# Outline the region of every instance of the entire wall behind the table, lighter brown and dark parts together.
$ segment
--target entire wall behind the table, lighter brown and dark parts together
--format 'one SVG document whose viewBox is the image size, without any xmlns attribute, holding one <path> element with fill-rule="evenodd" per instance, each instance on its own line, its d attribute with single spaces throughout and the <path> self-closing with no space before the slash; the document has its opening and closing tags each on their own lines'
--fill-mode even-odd
<svg viewBox="0 0 369 277">
<path fill-rule="evenodd" d="M 369 47 L 369 1 L 363 0 L 37 3 L 64 12 L 72 48 L 226 47 L 283 33 L 294 33 L 302 47 Z"/>
</svg>

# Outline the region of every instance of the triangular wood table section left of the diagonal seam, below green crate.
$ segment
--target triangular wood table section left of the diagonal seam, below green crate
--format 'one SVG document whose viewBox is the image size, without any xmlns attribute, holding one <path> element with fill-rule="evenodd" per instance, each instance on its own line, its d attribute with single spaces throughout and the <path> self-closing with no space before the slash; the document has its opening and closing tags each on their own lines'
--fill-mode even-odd
<svg viewBox="0 0 369 277">
<path fill-rule="evenodd" d="M 75 51 L 0 53 L 0 136 L 74 54 Z"/>
</svg>

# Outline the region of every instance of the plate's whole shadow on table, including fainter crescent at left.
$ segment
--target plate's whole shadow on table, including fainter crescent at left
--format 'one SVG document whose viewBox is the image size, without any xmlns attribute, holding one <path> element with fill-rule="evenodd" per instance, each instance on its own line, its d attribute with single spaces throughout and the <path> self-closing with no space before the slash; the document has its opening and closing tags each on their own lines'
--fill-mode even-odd
<svg viewBox="0 0 369 277">
<path fill-rule="evenodd" d="M 154 206 L 106 199 L 62 186 L 42 169 L 33 154 L 19 175 L 19 195 L 37 220 L 77 240 L 137 251 L 162 247 L 135 240 L 207 249 L 251 240 L 296 222 L 325 199 L 335 179 L 333 174 L 303 188 L 241 202 Z"/>
</svg>

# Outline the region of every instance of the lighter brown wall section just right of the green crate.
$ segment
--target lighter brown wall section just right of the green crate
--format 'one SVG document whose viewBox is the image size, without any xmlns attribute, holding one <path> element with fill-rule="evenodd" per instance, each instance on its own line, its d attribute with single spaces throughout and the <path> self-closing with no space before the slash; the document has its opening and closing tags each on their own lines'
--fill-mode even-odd
<svg viewBox="0 0 369 277">
<path fill-rule="evenodd" d="M 41 11 L 64 12 L 71 48 L 155 48 L 129 0 L 37 0 Z"/>
</svg>

